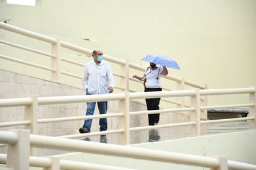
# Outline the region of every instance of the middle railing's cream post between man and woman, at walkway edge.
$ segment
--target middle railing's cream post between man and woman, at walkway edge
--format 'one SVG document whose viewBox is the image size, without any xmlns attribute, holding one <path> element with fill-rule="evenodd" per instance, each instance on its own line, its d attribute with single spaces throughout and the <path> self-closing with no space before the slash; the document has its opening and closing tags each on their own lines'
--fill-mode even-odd
<svg viewBox="0 0 256 170">
<path fill-rule="evenodd" d="M 119 144 L 120 145 L 129 145 L 130 144 L 130 112 L 129 112 L 129 92 L 125 91 L 126 98 L 119 101 L 120 112 L 124 113 L 124 116 L 119 117 L 119 128 L 124 129 L 123 133 L 119 135 Z"/>
</svg>

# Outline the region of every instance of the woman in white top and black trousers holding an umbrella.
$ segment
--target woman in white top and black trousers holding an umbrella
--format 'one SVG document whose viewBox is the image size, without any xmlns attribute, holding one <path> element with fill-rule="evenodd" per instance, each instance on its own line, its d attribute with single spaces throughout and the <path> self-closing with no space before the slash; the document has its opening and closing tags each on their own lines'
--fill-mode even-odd
<svg viewBox="0 0 256 170">
<path fill-rule="evenodd" d="M 162 91 L 161 86 L 161 75 L 166 76 L 168 70 L 165 66 L 158 67 L 155 63 L 150 62 L 150 67 L 145 70 L 142 77 L 137 75 L 132 76 L 132 78 L 144 81 L 145 92 L 150 91 Z M 160 98 L 145 99 L 147 104 L 147 110 L 159 110 Z M 158 125 L 160 114 L 149 114 L 149 125 Z"/>
</svg>

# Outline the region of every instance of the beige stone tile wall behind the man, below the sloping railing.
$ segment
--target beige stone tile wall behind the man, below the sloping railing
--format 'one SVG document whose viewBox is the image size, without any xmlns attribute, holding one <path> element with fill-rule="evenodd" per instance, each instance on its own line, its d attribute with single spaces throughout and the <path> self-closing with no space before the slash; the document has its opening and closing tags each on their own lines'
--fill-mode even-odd
<svg viewBox="0 0 256 170">
<path fill-rule="evenodd" d="M 12 73 L 0 69 L 0 99 L 10 99 L 26 96 L 75 96 L 83 95 L 85 91 L 76 87 L 71 87 L 65 84 L 46 81 L 43 79 L 25 76 L 23 74 Z M 145 110 L 145 104 L 140 102 L 130 102 L 130 111 Z M 85 115 L 86 104 L 54 104 L 54 105 L 39 105 L 39 119 L 47 119 L 54 117 L 68 117 Z M 119 102 L 108 102 L 108 114 L 119 112 Z M 24 120 L 24 107 L 0 107 L 0 122 L 12 122 L 14 120 Z M 96 107 L 95 114 L 99 114 Z M 109 118 L 108 129 L 118 128 L 118 118 Z M 168 122 L 183 122 L 187 121 L 186 115 L 180 114 L 161 114 L 159 124 Z M 83 125 L 84 120 L 75 120 L 69 122 L 44 123 L 39 124 L 39 135 L 62 136 L 73 135 L 78 132 L 78 129 Z M 147 126 L 147 115 L 137 115 L 130 117 L 130 127 Z M 18 127 L 2 127 L 0 130 L 10 130 L 24 128 Z M 99 120 L 94 119 L 91 127 L 92 132 L 99 131 Z M 143 134 L 142 134 L 143 135 Z M 132 140 L 132 137 L 131 137 Z"/>
</svg>

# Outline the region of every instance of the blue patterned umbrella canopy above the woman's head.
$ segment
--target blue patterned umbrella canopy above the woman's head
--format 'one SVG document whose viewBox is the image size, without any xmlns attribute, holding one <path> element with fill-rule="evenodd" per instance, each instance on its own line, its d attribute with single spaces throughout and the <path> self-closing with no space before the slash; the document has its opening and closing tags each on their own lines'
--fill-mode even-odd
<svg viewBox="0 0 256 170">
<path fill-rule="evenodd" d="M 178 66 L 178 63 L 176 63 L 176 61 L 171 60 L 165 55 L 147 55 L 141 60 L 155 63 L 157 65 L 166 66 L 168 68 L 180 69 L 180 66 Z"/>
</svg>

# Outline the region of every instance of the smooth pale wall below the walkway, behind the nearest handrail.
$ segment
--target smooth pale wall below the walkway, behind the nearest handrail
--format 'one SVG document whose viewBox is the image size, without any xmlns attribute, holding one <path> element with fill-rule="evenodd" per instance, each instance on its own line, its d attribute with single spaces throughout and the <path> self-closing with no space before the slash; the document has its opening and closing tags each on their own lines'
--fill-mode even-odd
<svg viewBox="0 0 256 170">
<path fill-rule="evenodd" d="M 194 154 L 199 156 L 227 156 L 231 161 L 256 164 L 255 151 L 256 131 L 206 135 L 157 143 L 131 145 L 138 148 Z M 86 163 L 106 164 L 135 169 L 208 169 L 196 166 L 184 166 L 171 163 L 158 163 L 142 159 L 120 158 L 98 154 L 74 153 L 60 156 L 61 159 L 82 161 Z M 99 159 L 100 158 L 100 159 Z"/>
</svg>

